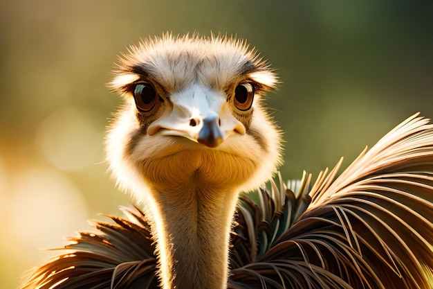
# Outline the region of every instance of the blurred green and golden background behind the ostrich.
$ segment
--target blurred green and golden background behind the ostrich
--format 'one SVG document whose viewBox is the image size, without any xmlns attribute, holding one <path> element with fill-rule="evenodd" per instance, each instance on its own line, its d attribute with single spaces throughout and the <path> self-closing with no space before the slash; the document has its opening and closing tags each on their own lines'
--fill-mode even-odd
<svg viewBox="0 0 433 289">
<path fill-rule="evenodd" d="M 0 288 L 129 196 L 106 173 L 120 51 L 149 35 L 246 38 L 282 85 L 284 178 L 347 166 L 394 125 L 433 116 L 432 1 L 0 1 Z M 55 252 L 54 252 L 55 253 Z"/>
</svg>

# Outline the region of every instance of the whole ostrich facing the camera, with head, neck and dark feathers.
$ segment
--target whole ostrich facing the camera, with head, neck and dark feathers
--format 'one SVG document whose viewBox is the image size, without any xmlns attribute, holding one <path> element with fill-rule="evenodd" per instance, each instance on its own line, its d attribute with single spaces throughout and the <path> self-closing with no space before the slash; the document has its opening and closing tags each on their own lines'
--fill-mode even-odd
<svg viewBox="0 0 433 289">
<path fill-rule="evenodd" d="M 342 159 L 267 189 L 282 139 L 261 100 L 277 82 L 241 40 L 131 46 L 107 158 L 139 207 L 70 238 L 22 288 L 432 288 L 433 125 L 411 116 L 340 175 Z"/>
</svg>

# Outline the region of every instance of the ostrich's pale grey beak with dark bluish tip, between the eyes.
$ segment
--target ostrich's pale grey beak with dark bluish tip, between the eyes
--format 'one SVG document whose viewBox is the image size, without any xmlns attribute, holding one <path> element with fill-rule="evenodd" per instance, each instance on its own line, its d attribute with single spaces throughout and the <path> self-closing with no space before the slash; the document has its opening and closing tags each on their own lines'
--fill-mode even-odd
<svg viewBox="0 0 433 289">
<path fill-rule="evenodd" d="M 231 134 L 245 134 L 246 129 L 230 112 L 221 91 L 194 85 L 172 94 L 172 109 L 165 110 L 147 129 L 149 135 L 179 136 L 216 148 Z"/>
</svg>

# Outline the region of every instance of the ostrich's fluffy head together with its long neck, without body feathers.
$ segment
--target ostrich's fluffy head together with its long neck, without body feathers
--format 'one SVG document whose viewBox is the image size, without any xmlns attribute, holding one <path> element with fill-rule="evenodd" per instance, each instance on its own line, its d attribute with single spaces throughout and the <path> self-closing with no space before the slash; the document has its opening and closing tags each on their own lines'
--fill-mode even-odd
<svg viewBox="0 0 433 289">
<path fill-rule="evenodd" d="M 261 98 L 275 73 L 241 41 L 155 38 L 122 55 L 125 96 L 107 138 L 113 175 L 151 216 L 163 288 L 225 288 L 240 191 L 280 161 Z"/>
</svg>

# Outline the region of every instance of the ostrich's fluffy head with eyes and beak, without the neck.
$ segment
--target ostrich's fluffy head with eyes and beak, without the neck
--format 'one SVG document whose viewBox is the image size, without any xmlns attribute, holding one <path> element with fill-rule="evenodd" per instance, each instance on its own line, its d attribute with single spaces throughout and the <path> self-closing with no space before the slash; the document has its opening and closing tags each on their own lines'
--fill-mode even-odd
<svg viewBox="0 0 433 289">
<path fill-rule="evenodd" d="M 171 36 L 131 47 L 111 83 L 126 100 L 107 141 L 120 184 L 249 190 L 275 172 L 279 132 L 260 100 L 276 77 L 247 49 Z"/>
</svg>

